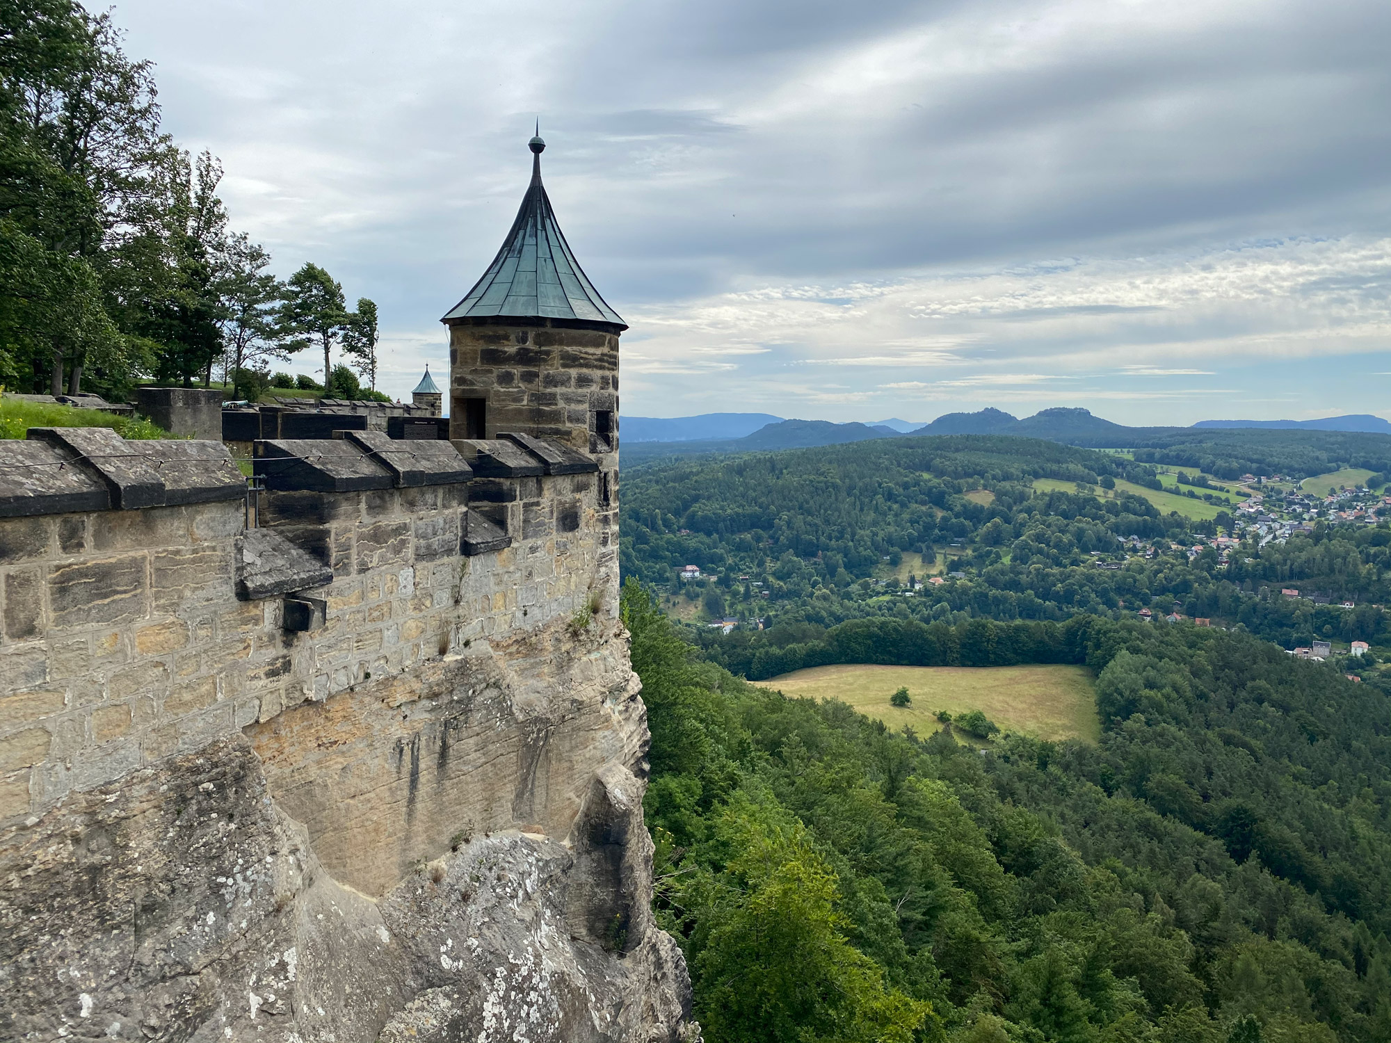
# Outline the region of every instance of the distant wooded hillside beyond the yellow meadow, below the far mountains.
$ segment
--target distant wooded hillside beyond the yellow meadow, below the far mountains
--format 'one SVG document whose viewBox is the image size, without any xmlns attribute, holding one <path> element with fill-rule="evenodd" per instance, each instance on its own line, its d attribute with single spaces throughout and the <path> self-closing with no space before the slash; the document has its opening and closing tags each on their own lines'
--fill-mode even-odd
<svg viewBox="0 0 1391 1043">
<path fill-rule="evenodd" d="M 1036 491 L 1035 478 L 1091 491 Z M 1146 608 L 1241 624 L 1287 647 L 1384 637 L 1385 524 L 1324 519 L 1284 544 L 1242 544 L 1223 563 L 1212 548 L 1192 558 L 1189 548 L 1195 534 L 1228 530 L 1230 515 L 1161 513 L 1116 492 L 1118 480 L 1159 484 L 1152 466 L 1113 453 L 982 435 L 645 464 L 625 470 L 622 567 L 701 598 L 707 616 L 765 619 L 762 631 L 693 636 L 750 677 L 771 676 L 748 672 L 759 648 L 819 640 L 828 627 L 872 616 L 1120 619 Z M 1092 495 L 1106 487 L 1110 496 Z M 1120 555 L 1129 537 L 1152 545 L 1152 556 Z M 874 579 L 907 553 L 942 555 L 961 577 L 912 597 L 903 597 L 907 576 Z M 684 565 L 714 579 L 683 583 Z M 1291 583 L 1334 604 L 1281 597 Z M 1344 599 L 1356 608 L 1340 608 Z"/>
</svg>

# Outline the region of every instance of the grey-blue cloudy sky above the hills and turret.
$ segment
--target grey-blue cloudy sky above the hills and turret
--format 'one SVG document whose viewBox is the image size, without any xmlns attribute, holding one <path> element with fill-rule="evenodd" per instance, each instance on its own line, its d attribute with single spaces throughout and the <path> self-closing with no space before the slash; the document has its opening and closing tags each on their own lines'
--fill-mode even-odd
<svg viewBox="0 0 1391 1043">
<path fill-rule="evenodd" d="M 531 121 L 623 413 L 1391 416 L 1385 0 L 118 0 L 167 128 L 385 380 Z M 306 357 L 298 369 L 312 370 Z"/>
</svg>

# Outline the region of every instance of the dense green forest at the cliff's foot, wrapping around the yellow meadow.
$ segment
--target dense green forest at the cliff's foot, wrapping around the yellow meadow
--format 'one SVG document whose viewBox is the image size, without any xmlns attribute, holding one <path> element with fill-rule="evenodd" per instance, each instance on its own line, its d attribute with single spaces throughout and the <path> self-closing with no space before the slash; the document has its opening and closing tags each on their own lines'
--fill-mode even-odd
<svg viewBox="0 0 1391 1043">
<path fill-rule="evenodd" d="M 921 627 L 1097 673 L 1097 745 L 982 752 L 757 688 L 633 580 L 622 612 L 658 914 L 712 1043 L 1391 1039 L 1378 683 L 1241 633 Z"/>
</svg>

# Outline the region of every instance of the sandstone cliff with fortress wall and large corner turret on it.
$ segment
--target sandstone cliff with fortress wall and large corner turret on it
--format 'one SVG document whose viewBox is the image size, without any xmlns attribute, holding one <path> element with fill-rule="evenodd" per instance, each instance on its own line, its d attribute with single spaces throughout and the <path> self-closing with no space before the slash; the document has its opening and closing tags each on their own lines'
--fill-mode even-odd
<svg viewBox="0 0 1391 1043">
<path fill-rule="evenodd" d="M 0 442 L 0 1037 L 698 1035 L 538 164 L 445 321 L 453 441 Z"/>
</svg>

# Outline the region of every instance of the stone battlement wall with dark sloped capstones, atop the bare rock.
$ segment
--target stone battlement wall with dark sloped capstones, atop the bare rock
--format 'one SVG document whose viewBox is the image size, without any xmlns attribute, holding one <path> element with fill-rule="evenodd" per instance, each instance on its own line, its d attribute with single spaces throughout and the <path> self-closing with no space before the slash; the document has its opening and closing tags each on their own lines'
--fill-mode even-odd
<svg viewBox="0 0 1391 1043">
<path fill-rule="evenodd" d="M 249 501 L 216 442 L 0 442 L 0 816 L 591 602 L 613 616 L 587 458 L 341 434 L 257 442 Z"/>
</svg>

